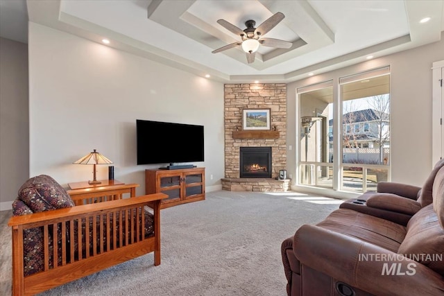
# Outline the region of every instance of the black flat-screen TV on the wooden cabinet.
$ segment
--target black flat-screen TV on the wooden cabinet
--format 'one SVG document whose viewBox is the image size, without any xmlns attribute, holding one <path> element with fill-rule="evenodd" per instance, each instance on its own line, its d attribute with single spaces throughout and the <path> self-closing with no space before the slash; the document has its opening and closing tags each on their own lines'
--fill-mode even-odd
<svg viewBox="0 0 444 296">
<path fill-rule="evenodd" d="M 137 119 L 137 164 L 203 162 L 203 125 Z"/>
</svg>

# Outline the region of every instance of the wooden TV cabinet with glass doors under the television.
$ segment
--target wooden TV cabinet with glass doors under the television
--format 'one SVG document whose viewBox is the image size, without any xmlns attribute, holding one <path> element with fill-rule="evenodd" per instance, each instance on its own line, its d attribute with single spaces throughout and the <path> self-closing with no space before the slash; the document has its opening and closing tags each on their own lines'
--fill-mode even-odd
<svg viewBox="0 0 444 296">
<path fill-rule="evenodd" d="M 145 170 L 145 193 L 158 192 L 169 196 L 162 200 L 160 209 L 205 200 L 205 168 Z"/>
</svg>

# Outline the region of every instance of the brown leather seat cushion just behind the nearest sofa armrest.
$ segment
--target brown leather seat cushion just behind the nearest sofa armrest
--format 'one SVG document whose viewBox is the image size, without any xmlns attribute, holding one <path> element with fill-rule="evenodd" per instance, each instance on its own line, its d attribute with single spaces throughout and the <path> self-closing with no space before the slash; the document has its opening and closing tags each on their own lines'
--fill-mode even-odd
<svg viewBox="0 0 444 296">
<path fill-rule="evenodd" d="M 337 209 L 317 226 L 359 238 L 392 252 L 398 252 L 406 234 L 406 227 L 402 225 L 351 209 Z"/>
</svg>

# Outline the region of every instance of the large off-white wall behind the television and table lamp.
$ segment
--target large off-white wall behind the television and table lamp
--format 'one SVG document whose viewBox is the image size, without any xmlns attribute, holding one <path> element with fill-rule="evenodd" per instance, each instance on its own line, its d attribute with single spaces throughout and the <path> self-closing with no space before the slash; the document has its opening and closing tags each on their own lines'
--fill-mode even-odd
<svg viewBox="0 0 444 296">
<path fill-rule="evenodd" d="M 71 164 L 92 149 L 114 162 L 114 175 L 140 184 L 136 119 L 205 126 L 207 189 L 223 177 L 223 84 L 75 35 L 29 26 L 30 175 L 62 186 L 92 179 L 92 166 Z M 152 145 L 162 145 L 155 138 Z M 180 146 L 178 146 L 180 149 Z M 108 166 L 98 166 L 98 179 Z M 214 179 L 210 180 L 210 175 Z"/>
</svg>

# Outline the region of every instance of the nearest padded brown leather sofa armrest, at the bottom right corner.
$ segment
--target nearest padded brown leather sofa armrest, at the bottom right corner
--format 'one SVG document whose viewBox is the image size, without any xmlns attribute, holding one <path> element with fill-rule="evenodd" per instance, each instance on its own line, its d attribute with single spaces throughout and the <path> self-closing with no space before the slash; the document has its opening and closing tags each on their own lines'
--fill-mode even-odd
<svg viewBox="0 0 444 296">
<path fill-rule="evenodd" d="M 314 225 L 298 229 L 293 252 L 302 265 L 374 295 L 444 293 L 444 278 L 425 265 Z"/>
</svg>

